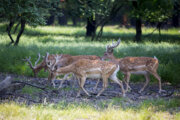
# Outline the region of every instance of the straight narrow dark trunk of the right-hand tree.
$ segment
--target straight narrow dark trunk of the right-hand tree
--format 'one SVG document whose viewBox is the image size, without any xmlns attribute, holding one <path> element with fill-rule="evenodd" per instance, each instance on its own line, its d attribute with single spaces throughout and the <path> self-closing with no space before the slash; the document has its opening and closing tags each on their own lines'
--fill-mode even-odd
<svg viewBox="0 0 180 120">
<path fill-rule="evenodd" d="M 141 41 L 141 36 L 142 36 L 141 19 L 137 18 L 136 19 L 136 36 L 135 36 L 135 41 L 136 42 L 140 42 Z"/>
</svg>

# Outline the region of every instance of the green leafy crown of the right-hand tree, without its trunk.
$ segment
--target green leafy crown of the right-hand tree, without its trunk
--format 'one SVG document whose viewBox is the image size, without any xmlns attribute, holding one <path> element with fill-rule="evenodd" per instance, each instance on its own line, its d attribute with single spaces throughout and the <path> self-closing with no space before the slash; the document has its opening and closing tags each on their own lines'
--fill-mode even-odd
<svg viewBox="0 0 180 120">
<path fill-rule="evenodd" d="M 132 15 L 150 22 L 163 22 L 172 15 L 172 0 L 137 0 Z"/>
</svg>

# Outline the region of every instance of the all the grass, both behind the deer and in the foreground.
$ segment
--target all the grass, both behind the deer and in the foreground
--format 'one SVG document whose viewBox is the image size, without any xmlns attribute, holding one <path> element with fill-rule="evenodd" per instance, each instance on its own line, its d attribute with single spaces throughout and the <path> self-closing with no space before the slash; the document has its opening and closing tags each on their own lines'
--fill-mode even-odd
<svg viewBox="0 0 180 120">
<path fill-rule="evenodd" d="M 154 28 L 143 28 L 141 43 L 134 43 L 134 28 L 106 26 L 100 41 L 91 41 L 85 37 L 85 26 L 39 26 L 26 30 L 20 39 L 19 46 L 7 47 L 10 39 L 5 32 L 5 24 L 0 24 L 0 72 L 17 75 L 33 76 L 33 72 L 22 59 L 31 56 L 33 63 L 37 54 L 71 54 L 103 56 L 106 45 L 112 40 L 121 38 L 121 44 L 114 50 L 116 57 L 126 56 L 156 56 L 159 60 L 158 73 L 162 83 L 173 86 L 180 84 L 180 33 L 179 29 L 162 30 L 161 36 Z M 15 37 L 15 36 L 13 36 Z M 42 59 L 42 58 L 41 58 Z M 122 74 L 119 73 L 122 79 Z M 47 72 L 41 71 L 38 77 L 47 77 Z M 143 76 L 131 77 L 133 82 L 143 82 Z M 151 76 L 151 82 L 157 80 Z M 176 93 L 175 93 L 176 94 Z M 177 93 L 179 94 L 179 93 Z M 177 95 L 178 96 L 178 95 Z M 112 98 L 96 105 L 82 98 L 84 102 L 58 104 L 42 103 L 27 105 L 15 101 L 0 103 L 0 119 L 20 120 L 26 118 L 37 120 L 179 120 L 179 98 L 151 99 L 134 103 L 128 98 Z M 128 103 L 128 105 L 127 105 Z"/>
</svg>

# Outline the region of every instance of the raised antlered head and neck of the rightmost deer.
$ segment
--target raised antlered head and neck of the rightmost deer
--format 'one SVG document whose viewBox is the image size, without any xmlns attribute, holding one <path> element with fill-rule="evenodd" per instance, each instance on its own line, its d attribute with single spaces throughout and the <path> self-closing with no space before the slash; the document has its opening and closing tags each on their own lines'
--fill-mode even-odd
<svg viewBox="0 0 180 120">
<path fill-rule="evenodd" d="M 116 48 L 121 42 L 121 39 L 119 39 L 116 43 L 112 42 L 112 45 L 106 46 L 106 52 L 104 52 L 104 56 L 101 57 L 102 60 L 104 59 L 112 59 L 114 58 L 113 55 L 113 49 Z"/>
</svg>

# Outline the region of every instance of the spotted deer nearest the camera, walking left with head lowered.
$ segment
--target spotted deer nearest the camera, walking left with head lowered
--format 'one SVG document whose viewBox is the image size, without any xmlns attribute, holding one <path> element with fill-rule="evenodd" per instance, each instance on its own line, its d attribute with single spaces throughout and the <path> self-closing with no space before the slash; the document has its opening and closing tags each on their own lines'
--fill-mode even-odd
<svg viewBox="0 0 180 120">
<path fill-rule="evenodd" d="M 47 57 L 48 53 L 46 55 L 46 58 Z M 109 61 L 79 59 L 70 65 L 61 67 L 61 65 L 59 65 L 58 63 L 58 60 L 61 59 L 61 56 L 57 56 L 55 57 L 55 59 L 55 63 L 51 63 L 51 61 L 46 61 L 48 68 L 53 73 L 52 80 L 55 79 L 55 77 L 59 74 L 73 73 L 78 78 L 80 88 L 86 93 L 87 96 L 90 96 L 90 94 L 84 89 L 86 78 L 102 78 L 103 87 L 98 92 L 96 96 L 98 97 L 107 88 L 108 78 L 110 78 L 120 86 L 122 90 L 122 95 L 125 96 L 122 81 L 120 81 L 116 76 L 117 72 L 119 71 L 119 65 Z M 81 90 L 79 89 L 77 97 L 80 96 L 80 93 Z"/>
</svg>

